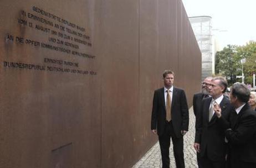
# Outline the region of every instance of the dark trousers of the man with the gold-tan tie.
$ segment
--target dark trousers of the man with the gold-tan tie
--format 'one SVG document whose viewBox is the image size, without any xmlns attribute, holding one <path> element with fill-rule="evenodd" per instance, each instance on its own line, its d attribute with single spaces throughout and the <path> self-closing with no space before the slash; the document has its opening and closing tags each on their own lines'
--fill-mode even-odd
<svg viewBox="0 0 256 168">
<path fill-rule="evenodd" d="M 166 122 L 165 131 L 159 138 L 162 167 L 170 168 L 169 148 L 172 139 L 173 153 L 177 168 L 185 168 L 184 153 L 183 153 L 183 137 L 176 138 L 173 130 L 172 122 Z"/>
</svg>

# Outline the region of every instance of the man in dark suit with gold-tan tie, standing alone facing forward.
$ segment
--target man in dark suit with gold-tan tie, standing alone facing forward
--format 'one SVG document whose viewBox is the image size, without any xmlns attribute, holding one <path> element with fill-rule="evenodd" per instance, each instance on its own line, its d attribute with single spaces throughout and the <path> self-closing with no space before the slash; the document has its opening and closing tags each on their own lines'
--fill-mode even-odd
<svg viewBox="0 0 256 168">
<path fill-rule="evenodd" d="M 174 73 L 163 72 L 164 87 L 155 91 L 151 116 L 151 130 L 158 134 L 162 167 L 170 167 L 170 140 L 176 167 L 185 168 L 183 135 L 188 131 L 188 106 L 185 92 L 173 87 Z"/>
</svg>

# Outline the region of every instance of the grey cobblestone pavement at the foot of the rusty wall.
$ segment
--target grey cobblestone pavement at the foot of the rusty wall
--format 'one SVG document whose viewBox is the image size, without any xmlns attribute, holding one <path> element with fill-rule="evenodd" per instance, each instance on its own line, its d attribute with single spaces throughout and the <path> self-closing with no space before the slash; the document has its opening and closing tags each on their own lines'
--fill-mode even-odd
<svg viewBox="0 0 256 168">
<path fill-rule="evenodd" d="M 196 168 L 196 151 L 194 150 L 194 123 L 195 117 L 193 113 L 193 108 L 190 108 L 190 126 L 188 132 L 184 137 L 184 158 L 185 158 L 185 167 Z M 172 143 L 170 146 L 170 167 L 176 167 L 175 159 L 173 156 Z M 147 153 L 137 162 L 132 168 L 160 168 L 162 167 L 160 146 L 157 142 Z"/>
</svg>

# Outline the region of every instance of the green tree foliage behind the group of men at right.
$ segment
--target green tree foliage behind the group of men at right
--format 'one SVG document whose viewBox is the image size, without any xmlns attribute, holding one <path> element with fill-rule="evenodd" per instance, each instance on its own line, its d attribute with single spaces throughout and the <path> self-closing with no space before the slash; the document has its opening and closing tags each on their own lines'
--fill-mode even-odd
<svg viewBox="0 0 256 168">
<path fill-rule="evenodd" d="M 227 76 L 229 85 L 241 82 L 242 79 L 235 76 L 242 76 L 243 64 L 244 82 L 252 85 L 252 75 L 256 72 L 256 42 L 249 41 L 244 46 L 227 45 L 222 51 L 216 52 L 215 63 L 216 73 Z"/>
</svg>

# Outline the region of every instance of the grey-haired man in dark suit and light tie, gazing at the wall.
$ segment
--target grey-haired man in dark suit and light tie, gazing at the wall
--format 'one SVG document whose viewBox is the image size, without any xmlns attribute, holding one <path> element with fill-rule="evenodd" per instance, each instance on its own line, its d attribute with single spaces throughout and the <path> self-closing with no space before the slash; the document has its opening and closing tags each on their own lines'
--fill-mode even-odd
<svg viewBox="0 0 256 168">
<path fill-rule="evenodd" d="M 225 165 L 227 144 L 224 133 L 229 128 L 229 99 L 223 96 L 227 81 L 223 77 L 214 77 L 209 86 L 212 97 L 203 99 L 201 111 L 197 114 L 194 149 L 201 156 L 203 168 L 221 168 Z M 219 104 L 222 113 L 214 112 L 213 107 Z"/>
</svg>

